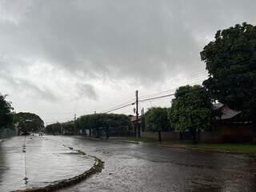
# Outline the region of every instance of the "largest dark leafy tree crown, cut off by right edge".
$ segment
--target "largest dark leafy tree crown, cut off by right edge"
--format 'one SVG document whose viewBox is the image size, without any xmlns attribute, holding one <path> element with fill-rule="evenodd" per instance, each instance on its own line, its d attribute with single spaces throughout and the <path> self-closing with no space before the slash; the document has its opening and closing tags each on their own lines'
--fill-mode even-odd
<svg viewBox="0 0 256 192">
<path fill-rule="evenodd" d="M 209 78 L 203 85 L 214 100 L 256 121 L 256 26 L 218 30 L 201 52 Z"/>
</svg>

